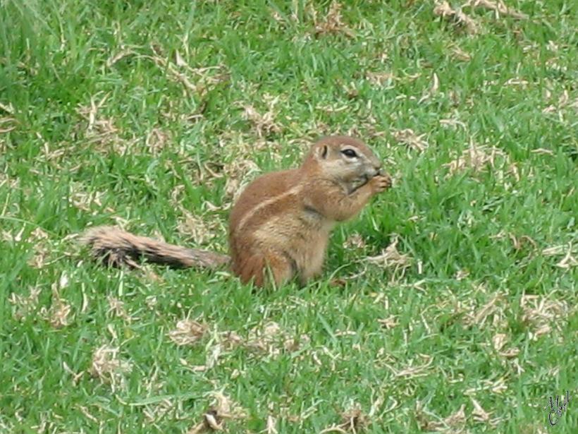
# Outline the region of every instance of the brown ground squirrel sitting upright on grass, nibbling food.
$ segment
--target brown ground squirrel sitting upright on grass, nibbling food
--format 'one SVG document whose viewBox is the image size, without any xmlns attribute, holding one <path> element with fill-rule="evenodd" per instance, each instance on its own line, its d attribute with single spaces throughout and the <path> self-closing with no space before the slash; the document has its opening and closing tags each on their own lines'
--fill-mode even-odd
<svg viewBox="0 0 578 434">
<path fill-rule="evenodd" d="M 230 213 L 230 256 L 114 227 L 90 229 L 83 239 L 92 254 L 109 265 L 137 266 L 139 257 L 177 267 L 228 264 L 243 283 L 279 286 L 297 277 L 305 284 L 321 272 L 336 222 L 354 217 L 373 195 L 390 186 L 390 177 L 367 145 L 348 136 L 330 136 L 312 146 L 301 167 L 264 174 L 245 188 Z"/>
</svg>

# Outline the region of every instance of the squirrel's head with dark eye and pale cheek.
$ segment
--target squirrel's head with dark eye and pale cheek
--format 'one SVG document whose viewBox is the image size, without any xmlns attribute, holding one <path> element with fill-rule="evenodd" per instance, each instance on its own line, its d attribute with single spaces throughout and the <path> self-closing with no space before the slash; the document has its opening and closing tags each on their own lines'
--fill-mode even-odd
<svg viewBox="0 0 578 434">
<path fill-rule="evenodd" d="M 324 175 L 345 183 L 351 191 L 381 171 L 381 161 L 371 148 L 347 135 L 331 135 L 317 141 L 306 160 L 312 162 Z"/>
</svg>

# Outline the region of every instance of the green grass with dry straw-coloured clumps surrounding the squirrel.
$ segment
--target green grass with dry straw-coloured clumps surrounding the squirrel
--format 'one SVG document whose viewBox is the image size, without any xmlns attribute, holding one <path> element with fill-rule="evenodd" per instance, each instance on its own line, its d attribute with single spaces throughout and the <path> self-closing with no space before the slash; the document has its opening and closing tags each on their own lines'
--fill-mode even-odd
<svg viewBox="0 0 578 434">
<path fill-rule="evenodd" d="M 433 1 L 0 4 L 1 432 L 185 433 L 228 404 L 233 433 L 545 433 L 566 390 L 575 431 L 573 2 L 465 7 L 475 34 Z M 331 133 L 395 188 L 308 287 L 76 243 L 226 251 L 235 192 Z"/>
</svg>

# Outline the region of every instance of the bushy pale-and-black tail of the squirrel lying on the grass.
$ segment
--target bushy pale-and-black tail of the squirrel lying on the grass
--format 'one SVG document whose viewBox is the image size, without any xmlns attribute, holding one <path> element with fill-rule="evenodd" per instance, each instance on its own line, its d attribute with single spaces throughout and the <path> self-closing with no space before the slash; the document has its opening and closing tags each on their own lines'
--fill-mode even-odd
<svg viewBox="0 0 578 434">
<path fill-rule="evenodd" d="M 219 268 L 229 263 L 228 255 L 198 248 L 185 248 L 137 236 L 116 227 L 94 227 L 82 236 L 90 246 L 94 258 L 106 265 L 138 267 L 136 260 L 144 257 L 149 262 L 172 267 Z"/>
</svg>

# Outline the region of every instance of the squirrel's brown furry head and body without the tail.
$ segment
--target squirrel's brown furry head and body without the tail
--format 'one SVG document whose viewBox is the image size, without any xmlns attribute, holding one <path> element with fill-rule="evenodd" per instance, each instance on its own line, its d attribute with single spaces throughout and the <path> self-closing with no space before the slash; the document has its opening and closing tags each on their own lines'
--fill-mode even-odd
<svg viewBox="0 0 578 434">
<path fill-rule="evenodd" d="M 364 156 L 359 167 L 341 164 L 344 145 Z M 391 185 L 380 169 L 367 145 L 341 136 L 319 140 L 299 169 L 256 179 L 230 215 L 233 272 L 258 286 L 266 281 L 267 268 L 277 285 L 294 276 L 305 283 L 319 275 L 333 225 L 357 215 L 372 195 Z"/>
</svg>

